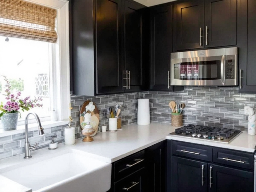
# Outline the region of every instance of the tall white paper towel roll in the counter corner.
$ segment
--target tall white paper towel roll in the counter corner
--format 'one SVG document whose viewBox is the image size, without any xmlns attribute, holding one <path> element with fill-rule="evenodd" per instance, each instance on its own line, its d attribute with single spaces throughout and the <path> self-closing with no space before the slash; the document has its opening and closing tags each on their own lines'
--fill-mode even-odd
<svg viewBox="0 0 256 192">
<path fill-rule="evenodd" d="M 138 125 L 150 124 L 149 99 L 147 98 L 138 99 L 137 124 Z"/>
</svg>

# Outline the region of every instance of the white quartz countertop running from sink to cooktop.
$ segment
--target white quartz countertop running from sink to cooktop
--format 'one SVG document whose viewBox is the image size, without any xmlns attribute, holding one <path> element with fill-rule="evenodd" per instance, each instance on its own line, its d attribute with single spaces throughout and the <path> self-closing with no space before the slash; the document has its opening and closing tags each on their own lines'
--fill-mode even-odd
<svg viewBox="0 0 256 192">
<path fill-rule="evenodd" d="M 93 137 L 93 142 L 85 143 L 82 142 L 82 138 L 80 138 L 76 140 L 74 145 L 64 145 L 63 143 L 59 144 L 57 150 L 50 151 L 47 148 L 44 148 L 41 150 L 32 151 L 31 159 L 34 161 L 40 161 L 42 158 L 45 159 L 48 156 L 50 157 L 50 155 L 56 152 L 74 149 L 85 152 L 88 157 L 106 163 L 112 163 L 165 139 L 222 147 L 245 152 L 254 152 L 254 146 L 256 145 L 256 136 L 248 135 L 246 132 L 241 133 L 231 143 L 223 144 L 219 142 L 168 135 L 169 133 L 174 132 L 177 127 L 173 127 L 167 123 L 151 122 L 150 125 L 137 125 L 134 123 L 123 126 L 123 128 L 123 130 L 117 132 L 107 131 L 106 133 L 98 133 Z M 24 154 L 0 161 L 0 180 L 2 180 L 1 169 L 8 169 L 9 167 L 22 165 L 24 162 L 29 161 L 27 159 L 23 159 L 23 156 Z M 3 186 L 2 182 L 0 183 L 0 186 Z M 0 191 L 5 192 L 8 190 L 2 190 L 1 188 Z M 29 190 L 21 189 L 15 191 L 23 192 Z"/>
</svg>

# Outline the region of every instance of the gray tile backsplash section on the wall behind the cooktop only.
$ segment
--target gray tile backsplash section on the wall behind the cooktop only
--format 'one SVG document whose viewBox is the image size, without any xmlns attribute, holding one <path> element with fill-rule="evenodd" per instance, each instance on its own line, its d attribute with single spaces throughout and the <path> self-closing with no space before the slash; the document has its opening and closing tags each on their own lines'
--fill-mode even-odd
<svg viewBox="0 0 256 192">
<path fill-rule="evenodd" d="M 151 91 L 145 93 L 144 96 L 147 97 Z M 171 100 L 176 103 L 184 102 L 186 104 L 183 113 L 184 124 L 195 122 L 199 125 L 219 126 L 242 131 L 247 131 L 248 123 L 248 118 L 243 111 L 244 105 L 255 108 L 256 104 L 256 94 L 238 93 L 238 87 L 184 87 L 184 91 L 161 91 L 157 94 L 162 95 L 162 99 L 157 99 L 157 102 L 151 100 L 152 112 L 166 114 L 168 111 L 171 113 L 168 106 Z M 158 96 L 158 98 L 160 97 Z M 161 103 L 161 107 L 158 103 Z M 161 118 L 165 118 L 165 122 L 170 123 L 170 118 L 165 117 L 165 114 Z M 154 116 L 151 121 L 163 122 L 163 119 Z"/>
</svg>

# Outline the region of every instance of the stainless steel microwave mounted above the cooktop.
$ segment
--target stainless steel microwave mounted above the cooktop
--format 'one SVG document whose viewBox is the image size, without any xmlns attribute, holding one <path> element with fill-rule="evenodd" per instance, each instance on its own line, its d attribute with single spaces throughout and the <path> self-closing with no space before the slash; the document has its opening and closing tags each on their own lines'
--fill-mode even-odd
<svg viewBox="0 0 256 192">
<path fill-rule="evenodd" d="M 171 53 L 174 86 L 237 86 L 238 48 Z"/>
</svg>

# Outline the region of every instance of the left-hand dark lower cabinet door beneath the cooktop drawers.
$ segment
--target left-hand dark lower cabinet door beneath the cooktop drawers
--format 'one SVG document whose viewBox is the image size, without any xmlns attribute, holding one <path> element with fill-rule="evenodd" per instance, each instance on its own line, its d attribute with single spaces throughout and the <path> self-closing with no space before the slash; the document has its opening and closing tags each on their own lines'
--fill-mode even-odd
<svg viewBox="0 0 256 192">
<path fill-rule="evenodd" d="M 207 163 L 172 156 L 172 192 L 187 191 L 207 191 Z"/>
</svg>

